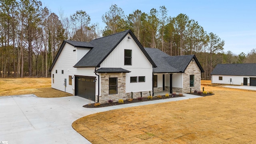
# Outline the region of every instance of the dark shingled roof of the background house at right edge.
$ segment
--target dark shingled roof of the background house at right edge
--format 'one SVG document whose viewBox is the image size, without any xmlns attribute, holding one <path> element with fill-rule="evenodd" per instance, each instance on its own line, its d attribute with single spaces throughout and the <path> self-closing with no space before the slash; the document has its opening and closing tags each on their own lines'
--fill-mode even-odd
<svg viewBox="0 0 256 144">
<path fill-rule="evenodd" d="M 256 64 L 217 64 L 211 75 L 256 76 Z"/>
</svg>

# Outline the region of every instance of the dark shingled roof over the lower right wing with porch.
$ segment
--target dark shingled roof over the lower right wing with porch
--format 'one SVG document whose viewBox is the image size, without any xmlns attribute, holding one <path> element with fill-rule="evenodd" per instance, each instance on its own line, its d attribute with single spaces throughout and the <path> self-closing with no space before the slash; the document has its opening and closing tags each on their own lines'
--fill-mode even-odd
<svg viewBox="0 0 256 144">
<path fill-rule="evenodd" d="M 153 68 L 155 73 L 184 72 L 193 58 L 201 72 L 204 72 L 195 55 L 170 56 L 157 48 L 145 48 L 145 50 L 157 66 Z"/>
</svg>

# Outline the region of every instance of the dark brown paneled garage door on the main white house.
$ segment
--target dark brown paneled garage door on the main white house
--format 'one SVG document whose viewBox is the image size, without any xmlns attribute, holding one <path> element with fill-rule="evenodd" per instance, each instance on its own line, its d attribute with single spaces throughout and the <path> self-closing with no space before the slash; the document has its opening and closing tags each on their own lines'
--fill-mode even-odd
<svg viewBox="0 0 256 144">
<path fill-rule="evenodd" d="M 95 101 L 95 78 L 92 76 L 76 76 L 76 96 Z"/>
</svg>

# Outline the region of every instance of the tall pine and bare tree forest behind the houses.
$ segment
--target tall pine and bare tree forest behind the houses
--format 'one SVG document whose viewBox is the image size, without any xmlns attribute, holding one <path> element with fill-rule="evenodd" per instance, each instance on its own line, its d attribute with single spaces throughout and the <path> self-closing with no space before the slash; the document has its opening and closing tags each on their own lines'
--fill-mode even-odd
<svg viewBox="0 0 256 144">
<path fill-rule="evenodd" d="M 124 15 L 116 4 L 92 24 L 84 10 L 69 17 L 42 7 L 39 0 L 0 0 L 1 77 L 48 77 L 48 72 L 63 40 L 90 42 L 95 38 L 131 29 L 142 46 L 158 48 L 171 56 L 194 54 L 209 80 L 217 64 L 256 63 L 256 49 L 248 54 L 224 52 L 224 40 L 206 32 L 186 14 L 171 17 L 165 6 L 150 12 L 135 10 Z"/>
</svg>

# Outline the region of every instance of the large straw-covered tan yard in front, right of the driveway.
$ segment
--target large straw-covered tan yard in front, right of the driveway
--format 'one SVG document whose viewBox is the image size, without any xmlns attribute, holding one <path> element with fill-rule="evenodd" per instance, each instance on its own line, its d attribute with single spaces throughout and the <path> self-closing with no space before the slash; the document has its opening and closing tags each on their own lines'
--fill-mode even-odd
<svg viewBox="0 0 256 144">
<path fill-rule="evenodd" d="M 72 126 L 93 144 L 255 144 L 256 91 L 202 87 L 214 95 L 101 112 Z"/>
</svg>

